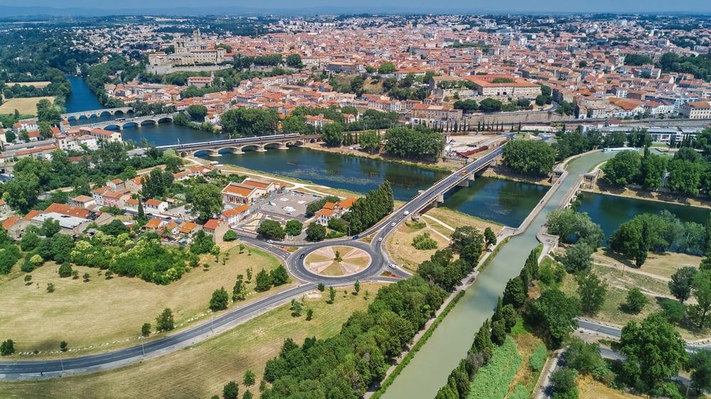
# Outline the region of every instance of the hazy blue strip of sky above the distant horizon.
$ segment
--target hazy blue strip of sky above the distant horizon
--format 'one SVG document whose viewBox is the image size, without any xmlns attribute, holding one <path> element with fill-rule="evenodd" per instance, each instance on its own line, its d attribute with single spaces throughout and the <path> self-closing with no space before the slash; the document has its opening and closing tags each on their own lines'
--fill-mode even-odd
<svg viewBox="0 0 711 399">
<path fill-rule="evenodd" d="M 357 7 L 363 12 L 377 12 L 380 7 L 387 6 L 390 10 L 406 12 L 432 12 L 447 13 L 448 11 L 469 11 L 488 12 L 606 12 L 606 13 L 653 13 L 655 11 L 666 12 L 690 12 L 690 13 L 711 13 L 711 1 L 709 0 L 597 0 L 597 1 L 570 1 L 570 0 L 359 0 L 359 1 L 339 1 L 339 0 L 119 0 L 119 1 L 97 1 L 97 0 L 0 0 L 0 6 L 23 6 L 23 7 L 50 7 L 55 9 L 63 8 L 92 8 L 92 9 L 166 9 L 189 8 L 195 9 L 196 13 L 210 13 L 210 7 L 215 8 L 218 13 L 225 10 L 254 9 L 258 7 L 260 11 L 273 10 L 279 13 L 280 9 L 308 9 L 317 7 Z"/>
</svg>

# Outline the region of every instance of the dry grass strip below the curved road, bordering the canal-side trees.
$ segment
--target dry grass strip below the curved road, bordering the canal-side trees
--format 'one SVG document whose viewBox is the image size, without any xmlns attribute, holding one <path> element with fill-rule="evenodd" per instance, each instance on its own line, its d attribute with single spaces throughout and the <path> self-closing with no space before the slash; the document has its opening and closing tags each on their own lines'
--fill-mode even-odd
<svg viewBox="0 0 711 399">
<path fill-rule="evenodd" d="M 375 294 L 382 286 L 363 283 L 360 295 L 338 295 L 333 305 L 326 304 L 328 295 L 305 297 L 306 307 L 314 310 L 314 319 L 308 322 L 303 314 L 292 317 L 289 305 L 284 305 L 218 337 L 158 359 L 87 376 L 4 383 L 0 384 L 0 397 L 210 398 L 221 397 L 225 383 L 234 380 L 240 384 L 241 398 L 245 392 L 242 376 L 247 370 L 257 374 L 257 383 L 250 388 L 257 397 L 264 364 L 279 353 L 285 338 L 302 344 L 306 337 L 324 339 L 338 334 L 354 311 L 365 310 L 373 302 L 372 295 L 365 300 L 365 290 Z"/>
</svg>

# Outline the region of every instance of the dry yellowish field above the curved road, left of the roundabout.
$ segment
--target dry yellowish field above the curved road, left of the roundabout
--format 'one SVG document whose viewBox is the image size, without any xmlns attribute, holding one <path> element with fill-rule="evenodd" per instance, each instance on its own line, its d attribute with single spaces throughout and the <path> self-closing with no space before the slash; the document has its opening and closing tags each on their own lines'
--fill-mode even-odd
<svg viewBox="0 0 711 399">
<path fill-rule="evenodd" d="M 223 249 L 223 251 L 225 251 Z M 15 271 L 3 276 L 0 290 L 5 306 L 0 308 L 0 325 L 3 339 L 13 339 L 16 351 L 54 351 L 60 341 L 67 341 L 71 349 L 82 348 L 80 353 L 115 349 L 134 344 L 145 322 L 155 324 L 155 318 L 165 307 L 173 310 L 176 325 L 200 322 L 208 315 L 208 302 L 215 289 L 221 286 L 232 292 L 238 274 L 245 275 L 252 267 L 254 275 L 261 268 L 271 270 L 278 266 L 275 258 L 254 248 L 239 253 L 232 244 L 229 260 L 223 266 L 215 263 L 213 256 L 205 256 L 200 264 L 210 264 L 209 270 L 194 268 L 181 280 L 170 285 L 146 283 L 140 278 L 114 277 L 106 280 L 97 275 L 98 269 L 76 267 L 80 275 L 91 275 L 91 281 L 59 278 L 58 267 L 46 264 L 34 270 L 32 284 L 25 285 L 24 273 Z M 247 300 L 268 295 L 253 293 L 254 277 L 247 286 Z M 55 285 L 54 293 L 47 293 L 47 283 Z M 284 285 L 273 290 L 283 290 Z M 241 304 L 233 304 L 231 307 Z M 129 339 L 127 342 L 126 340 Z M 89 346 L 93 346 L 89 348 Z M 38 356 L 43 356 L 39 354 Z M 53 355 L 50 355 L 53 356 Z M 23 359 L 27 359 L 23 356 Z"/>
</svg>

